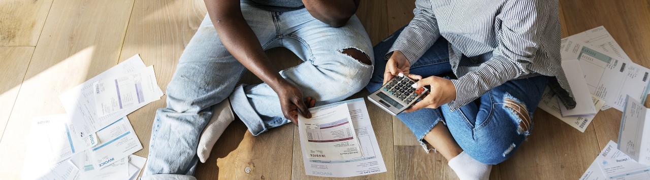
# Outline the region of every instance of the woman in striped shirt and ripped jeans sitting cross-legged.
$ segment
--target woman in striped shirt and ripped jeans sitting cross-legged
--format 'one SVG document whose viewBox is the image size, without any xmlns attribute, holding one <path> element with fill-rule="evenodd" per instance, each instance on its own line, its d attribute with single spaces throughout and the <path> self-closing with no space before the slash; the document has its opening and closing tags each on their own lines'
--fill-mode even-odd
<svg viewBox="0 0 650 180">
<path fill-rule="evenodd" d="M 487 179 L 490 164 L 512 156 L 530 134 L 547 83 L 565 107 L 575 107 L 560 67 L 558 1 L 415 5 L 415 18 L 374 47 L 385 58 L 376 60 L 366 88 L 374 92 L 396 75 L 421 79 L 414 88 L 430 86 L 397 117 L 460 179 Z"/>
</svg>

